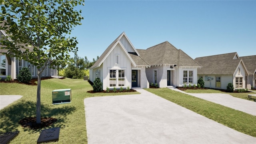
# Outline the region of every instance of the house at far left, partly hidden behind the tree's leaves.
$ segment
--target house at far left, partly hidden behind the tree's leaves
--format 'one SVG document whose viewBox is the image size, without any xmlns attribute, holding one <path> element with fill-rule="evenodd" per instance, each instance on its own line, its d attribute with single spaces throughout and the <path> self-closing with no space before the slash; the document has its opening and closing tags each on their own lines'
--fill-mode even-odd
<svg viewBox="0 0 256 144">
<path fill-rule="evenodd" d="M 2 26 L 4 23 L 1 23 Z M 0 38 L 6 37 L 8 34 L 4 30 L 0 30 Z M 10 40 L 10 39 L 9 39 Z M 10 40 L 12 41 L 12 40 Z M 30 64 L 29 62 L 13 57 L 12 54 L 9 53 L 7 49 L 2 49 L 2 46 L 0 44 L 0 78 L 5 79 L 6 76 L 10 75 L 12 79 L 16 79 L 20 70 L 23 67 L 26 67 L 30 70 L 32 78 L 37 78 L 37 68 L 33 64 Z M 25 46 L 25 48 L 32 50 L 33 48 L 28 48 Z M 46 67 L 44 71 L 42 72 L 42 78 L 45 77 L 51 77 L 54 75 L 57 75 L 58 72 L 56 69 L 51 69 Z"/>
</svg>

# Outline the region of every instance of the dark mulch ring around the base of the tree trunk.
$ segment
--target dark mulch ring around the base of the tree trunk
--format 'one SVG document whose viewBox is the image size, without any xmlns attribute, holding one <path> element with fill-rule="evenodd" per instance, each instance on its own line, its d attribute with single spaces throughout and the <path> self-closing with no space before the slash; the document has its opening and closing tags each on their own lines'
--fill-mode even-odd
<svg viewBox="0 0 256 144">
<path fill-rule="evenodd" d="M 41 118 L 41 124 L 36 124 L 36 118 L 26 117 L 19 121 L 19 124 L 24 128 L 39 129 L 52 125 L 56 122 L 56 118 Z"/>
</svg>

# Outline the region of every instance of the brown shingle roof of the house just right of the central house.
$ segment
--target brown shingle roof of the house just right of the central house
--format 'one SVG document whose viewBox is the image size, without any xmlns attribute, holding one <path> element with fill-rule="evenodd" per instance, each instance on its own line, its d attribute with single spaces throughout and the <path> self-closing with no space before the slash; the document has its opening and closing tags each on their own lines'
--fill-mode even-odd
<svg viewBox="0 0 256 144">
<path fill-rule="evenodd" d="M 234 74 L 238 64 L 242 62 L 236 52 L 204 56 L 195 60 L 202 65 L 202 68 L 197 70 L 198 74 Z"/>
</svg>

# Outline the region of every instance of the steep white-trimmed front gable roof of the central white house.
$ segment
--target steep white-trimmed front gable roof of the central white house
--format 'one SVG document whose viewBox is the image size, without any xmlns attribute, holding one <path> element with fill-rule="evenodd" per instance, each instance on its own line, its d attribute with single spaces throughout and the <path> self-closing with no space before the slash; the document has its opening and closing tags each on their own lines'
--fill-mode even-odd
<svg viewBox="0 0 256 144">
<path fill-rule="evenodd" d="M 124 46 L 122 45 L 122 43 L 120 42 L 120 39 L 122 38 L 122 36 L 125 36 L 126 38 L 127 38 L 127 36 L 126 36 L 126 34 L 123 32 L 122 34 L 120 34 L 120 36 L 118 36 L 117 38 L 116 38 L 116 40 L 114 40 L 114 42 L 112 42 L 109 46 L 108 46 L 108 48 L 102 53 L 102 55 L 98 58 L 98 60 L 94 63 L 94 65 L 92 65 L 91 67 L 90 67 L 90 69 L 91 68 L 96 68 L 96 67 L 99 67 L 101 64 L 102 64 L 102 62 L 104 62 L 104 60 L 108 57 L 108 55 L 110 54 L 110 52 L 112 52 L 112 50 L 115 48 L 115 46 L 117 45 L 117 44 L 120 44 L 120 47 L 125 51 L 124 53 L 126 54 L 126 56 L 128 57 L 128 59 L 132 62 L 132 64 L 134 65 L 134 66 L 136 66 L 137 64 L 136 64 L 136 62 L 134 62 L 134 60 L 133 60 L 133 58 L 131 57 L 131 55 L 130 54 L 128 54 L 128 52 L 126 51 L 126 49 L 124 48 Z M 127 38 L 127 40 L 128 40 L 128 42 L 130 42 L 130 40 Z M 130 43 L 131 44 L 131 43 Z M 132 44 L 131 44 L 131 46 L 132 46 Z M 132 46 L 132 48 L 134 49 L 134 51 L 135 52 L 137 52 L 137 50 Z M 138 52 L 137 52 L 138 53 Z M 136 54 L 137 56 L 138 56 L 138 54 Z M 134 58 L 135 58 L 135 56 L 133 56 Z M 138 58 L 136 58 L 136 59 L 138 59 Z M 148 65 L 146 65 L 146 66 L 148 66 Z"/>
</svg>

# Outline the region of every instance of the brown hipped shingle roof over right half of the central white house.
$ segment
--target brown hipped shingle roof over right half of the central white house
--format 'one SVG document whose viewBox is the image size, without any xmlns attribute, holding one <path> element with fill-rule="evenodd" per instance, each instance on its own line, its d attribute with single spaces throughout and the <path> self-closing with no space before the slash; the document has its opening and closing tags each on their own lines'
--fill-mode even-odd
<svg viewBox="0 0 256 144">
<path fill-rule="evenodd" d="M 176 64 L 177 66 L 201 67 L 195 60 L 182 50 L 178 50 L 168 41 L 152 46 L 146 50 L 138 50 L 142 58 L 150 66 Z"/>
</svg>

